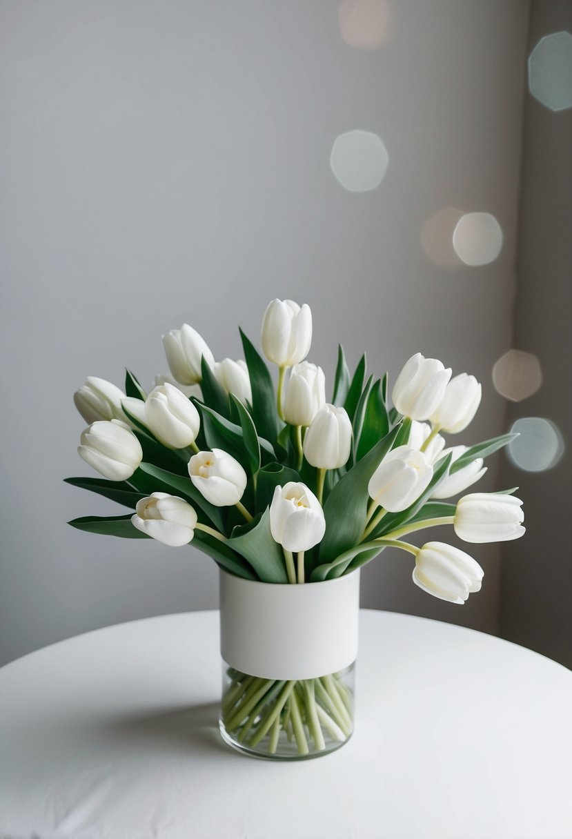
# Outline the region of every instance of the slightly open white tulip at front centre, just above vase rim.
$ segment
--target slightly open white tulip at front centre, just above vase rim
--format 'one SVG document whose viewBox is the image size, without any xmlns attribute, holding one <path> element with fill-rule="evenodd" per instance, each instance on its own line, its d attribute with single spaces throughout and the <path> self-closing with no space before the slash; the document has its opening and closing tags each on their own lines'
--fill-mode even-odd
<svg viewBox="0 0 572 839">
<path fill-rule="evenodd" d="M 325 534 L 324 511 L 303 483 L 290 481 L 276 487 L 270 505 L 270 531 L 285 550 L 309 550 Z"/>
</svg>

